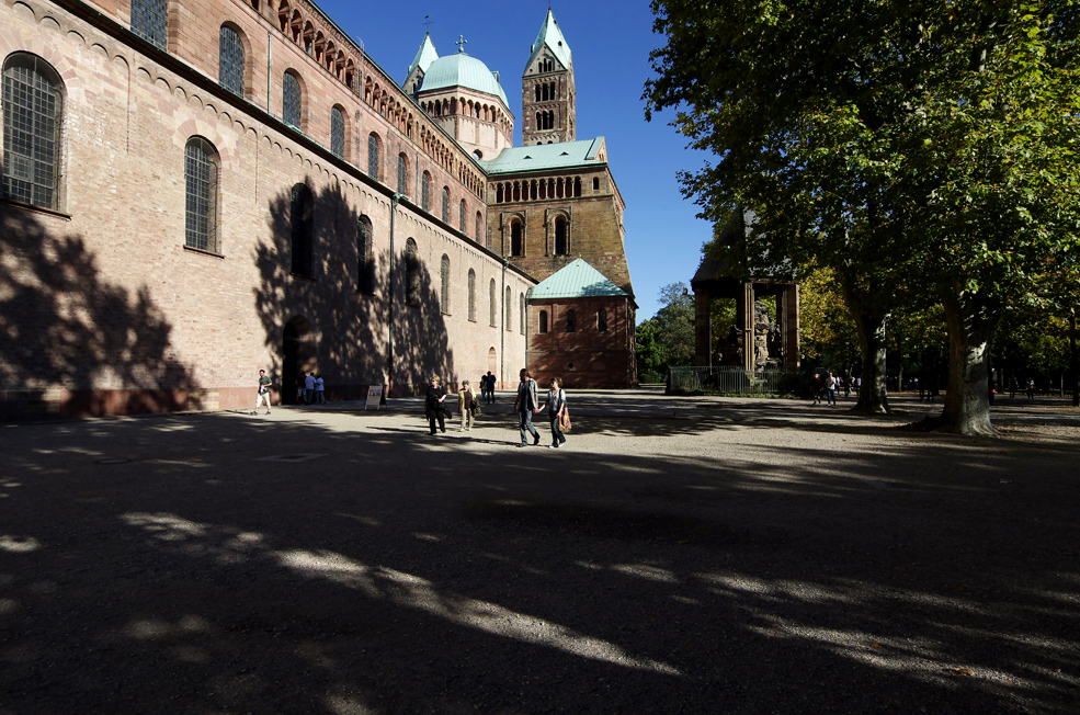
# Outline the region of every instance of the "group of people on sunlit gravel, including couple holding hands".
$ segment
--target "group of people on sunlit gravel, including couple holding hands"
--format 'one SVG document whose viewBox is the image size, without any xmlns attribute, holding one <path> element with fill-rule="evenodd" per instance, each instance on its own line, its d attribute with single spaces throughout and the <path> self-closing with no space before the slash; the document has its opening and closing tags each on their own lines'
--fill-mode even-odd
<svg viewBox="0 0 1080 715">
<path fill-rule="evenodd" d="M 489 376 L 491 379 L 489 381 Z M 514 412 L 518 415 L 518 431 L 521 441 L 518 446 L 523 447 L 528 444 L 527 435 L 532 435 L 533 444 L 539 444 L 541 435 L 533 427 L 533 415 L 547 411 L 548 421 L 552 425 L 550 449 L 555 450 L 566 444 L 564 429 L 568 429 L 569 412 L 566 405 L 566 390 L 562 389 L 561 381 L 552 377 L 550 387 L 544 396 L 544 401 L 539 401 L 539 388 L 533 376 L 527 370 L 522 370 L 520 375 L 521 383 L 518 386 L 518 397 L 514 399 Z M 493 376 L 488 373 L 481 378 L 481 394 L 491 385 L 493 393 Z M 428 415 L 429 433 L 434 436 L 440 432 L 446 432 L 446 388 L 442 384 L 439 375 L 432 375 L 431 385 L 424 396 L 424 411 Z M 494 396 L 491 396 L 494 401 Z M 480 404 L 476 399 L 476 393 L 466 379 L 462 382 L 462 388 L 457 393 L 457 409 L 462 413 L 462 431 L 468 432 L 473 429 L 473 421 L 480 411 Z"/>
</svg>

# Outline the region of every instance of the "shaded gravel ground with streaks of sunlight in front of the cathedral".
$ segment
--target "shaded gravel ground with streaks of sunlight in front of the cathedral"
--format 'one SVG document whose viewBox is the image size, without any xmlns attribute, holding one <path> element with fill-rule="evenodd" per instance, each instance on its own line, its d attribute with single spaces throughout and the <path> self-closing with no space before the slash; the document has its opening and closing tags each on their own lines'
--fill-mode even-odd
<svg viewBox="0 0 1080 715">
<path fill-rule="evenodd" d="M 0 425 L 0 714 L 1080 712 L 1066 402 L 570 399 Z"/>
</svg>

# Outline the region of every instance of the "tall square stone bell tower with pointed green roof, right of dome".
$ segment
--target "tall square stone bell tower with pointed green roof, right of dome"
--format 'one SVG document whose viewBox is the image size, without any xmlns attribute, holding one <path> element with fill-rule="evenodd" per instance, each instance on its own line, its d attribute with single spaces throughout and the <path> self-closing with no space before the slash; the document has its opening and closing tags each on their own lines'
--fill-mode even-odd
<svg viewBox="0 0 1080 715">
<path fill-rule="evenodd" d="M 548 8 L 521 76 L 522 145 L 573 141 L 576 104 L 570 46 Z"/>
</svg>

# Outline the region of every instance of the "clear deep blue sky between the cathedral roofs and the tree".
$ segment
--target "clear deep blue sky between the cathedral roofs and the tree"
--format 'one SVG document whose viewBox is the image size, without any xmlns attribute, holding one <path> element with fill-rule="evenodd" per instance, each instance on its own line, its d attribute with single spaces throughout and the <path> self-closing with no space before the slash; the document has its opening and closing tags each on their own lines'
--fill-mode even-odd
<svg viewBox="0 0 1080 715">
<path fill-rule="evenodd" d="M 412 3 L 389 7 L 345 0 L 317 0 L 320 8 L 400 83 L 423 41 L 424 18 L 440 56 L 465 52 L 499 72 L 521 146 L 521 72 L 547 3 Z M 555 19 L 573 53 L 578 89 L 578 139 L 604 136 L 615 182 L 626 201 L 626 253 L 640 307 L 638 321 L 652 317 L 661 286 L 690 283 L 712 227 L 695 218 L 697 207 L 682 197 L 675 173 L 694 169 L 702 155 L 668 125 L 670 117 L 645 121 L 641 92 L 651 76 L 652 34 L 648 2 L 586 0 L 553 2 Z"/>
</svg>

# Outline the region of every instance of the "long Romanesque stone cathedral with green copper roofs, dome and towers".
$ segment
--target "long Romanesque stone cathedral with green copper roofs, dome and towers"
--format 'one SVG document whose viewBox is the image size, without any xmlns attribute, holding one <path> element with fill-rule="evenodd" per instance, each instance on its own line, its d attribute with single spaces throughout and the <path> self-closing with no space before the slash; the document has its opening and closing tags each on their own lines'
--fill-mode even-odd
<svg viewBox="0 0 1080 715">
<path fill-rule="evenodd" d="M 398 83 L 306 0 L 2 0 L 0 417 L 248 409 L 521 367 L 636 384 L 625 204 L 548 10 Z"/>
</svg>

